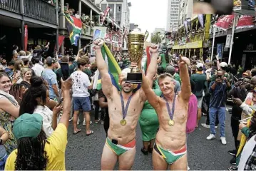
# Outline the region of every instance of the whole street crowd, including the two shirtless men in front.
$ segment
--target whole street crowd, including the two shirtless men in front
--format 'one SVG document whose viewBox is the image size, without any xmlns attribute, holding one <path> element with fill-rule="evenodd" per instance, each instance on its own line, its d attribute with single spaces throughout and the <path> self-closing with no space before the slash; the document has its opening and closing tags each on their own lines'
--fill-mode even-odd
<svg viewBox="0 0 256 171">
<path fill-rule="evenodd" d="M 69 122 L 73 136 L 81 133 L 83 113 L 86 135 L 93 136 L 94 122 L 102 123 L 106 144 L 102 170 L 130 170 L 135 158 L 135 128 L 139 123 L 144 155 L 152 153 L 155 170 L 189 170 L 187 140 L 202 126 L 207 140 L 226 145 L 225 127 L 231 125 L 234 149 L 229 170 L 255 170 L 256 69 L 214 61 L 186 58 L 152 45 L 145 51 L 150 63 L 141 84 L 128 83 L 128 56 L 116 53 L 122 69 L 118 87 L 112 83 L 101 54 L 102 40 L 93 42 L 96 61 L 82 48 L 76 56 L 44 58 L 46 46 L 30 52 L 14 46 L 12 60 L 0 65 L 0 170 L 65 170 Z M 164 64 L 164 65 L 163 65 Z M 62 66 L 68 66 L 68 77 Z M 97 88 L 101 75 L 101 89 Z M 120 89 L 120 90 L 119 90 Z M 232 100 L 231 123 L 226 123 L 226 103 Z M 101 112 L 100 112 L 101 110 Z M 101 113 L 101 115 L 99 115 Z M 202 115 L 205 123 L 200 125 Z M 86 169 L 86 168 L 85 168 Z"/>
</svg>

